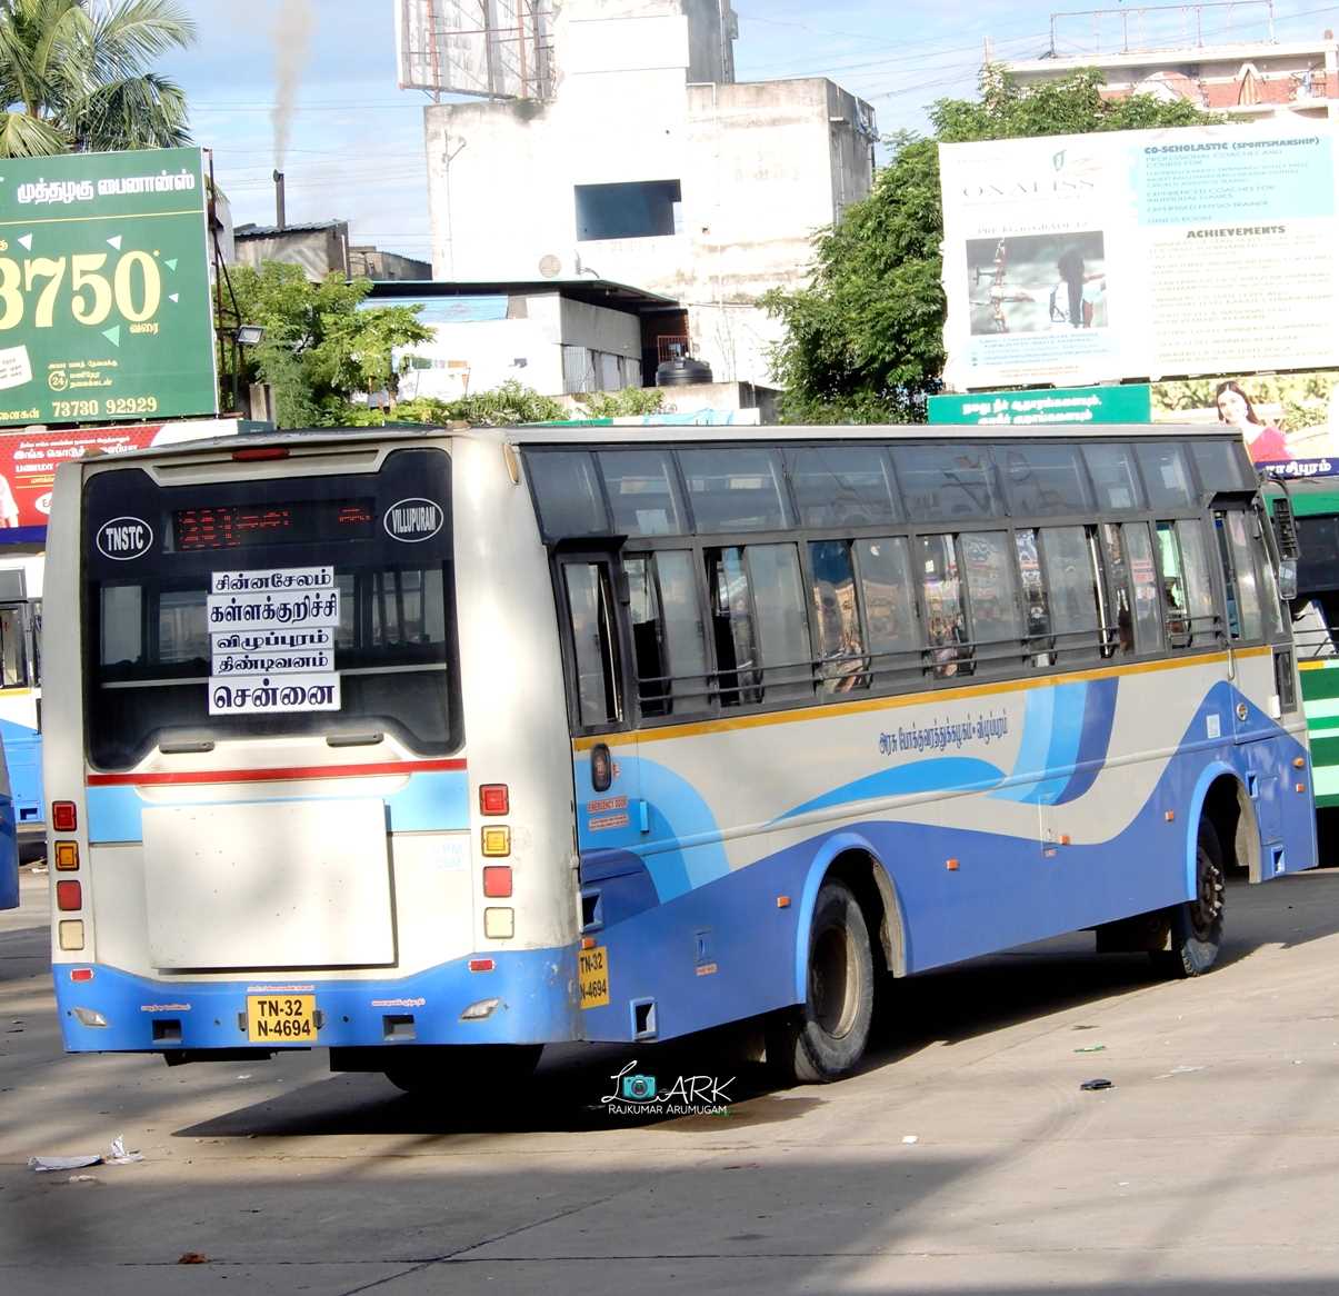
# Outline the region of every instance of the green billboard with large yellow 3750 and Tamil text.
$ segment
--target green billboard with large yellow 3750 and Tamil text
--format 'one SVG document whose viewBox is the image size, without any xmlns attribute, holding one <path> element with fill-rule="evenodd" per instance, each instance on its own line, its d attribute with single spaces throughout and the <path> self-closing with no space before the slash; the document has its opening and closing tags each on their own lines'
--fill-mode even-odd
<svg viewBox="0 0 1339 1296">
<path fill-rule="evenodd" d="M 0 424 L 218 411 L 200 149 L 0 158 Z"/>
</svg>

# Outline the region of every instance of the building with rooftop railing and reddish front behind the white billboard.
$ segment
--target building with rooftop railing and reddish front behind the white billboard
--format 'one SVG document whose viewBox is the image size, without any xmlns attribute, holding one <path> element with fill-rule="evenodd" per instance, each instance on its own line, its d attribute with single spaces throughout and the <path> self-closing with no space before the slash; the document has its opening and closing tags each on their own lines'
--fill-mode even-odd
<svg viewBox="0 0 1339 1296">
<path fill-rule="evenodd" d="M 1233 25 L 1225 25 L 1227 23 Z M 1152 94 L 1248 119 L 1339 112 L 1339 43 L 1273 39 L 1269 0 L 1153 9 L 1093 9 L 1051 16 L 1039 59 L 1003 64 L 1036 86 L 1095 67 L 1113 98 Z"/>
</svg>

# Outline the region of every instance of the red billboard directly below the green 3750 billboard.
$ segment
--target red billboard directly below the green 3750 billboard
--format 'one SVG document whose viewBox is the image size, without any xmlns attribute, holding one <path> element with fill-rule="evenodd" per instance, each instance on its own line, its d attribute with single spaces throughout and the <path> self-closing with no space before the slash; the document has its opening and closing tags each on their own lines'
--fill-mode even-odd
<svg viewBox="0 0 1339 1296">
<path fill-rule="evenodd" d="M 56 469 L 67 459 L 229 436 L 246 427 L 256 424 L 238 419 L 182 419 L 138 427 L 29 427 L 0 432 L 0 545 L 46 538 L 51 487 Z"/>
</svg>

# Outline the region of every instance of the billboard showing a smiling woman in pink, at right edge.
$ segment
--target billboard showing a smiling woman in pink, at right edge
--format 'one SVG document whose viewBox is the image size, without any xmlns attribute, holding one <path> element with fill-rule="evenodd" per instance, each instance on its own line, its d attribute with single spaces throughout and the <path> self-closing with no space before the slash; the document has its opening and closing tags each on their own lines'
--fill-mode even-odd
<svg viewBox="0 0 1339 1296">
<path fill-rule="evenodd" d="M 1279 477 L 1339 473 L 1339 370 L 1221 374 L 1153 384 L 1154 423 L 1227 423 Z"/>
</svg>

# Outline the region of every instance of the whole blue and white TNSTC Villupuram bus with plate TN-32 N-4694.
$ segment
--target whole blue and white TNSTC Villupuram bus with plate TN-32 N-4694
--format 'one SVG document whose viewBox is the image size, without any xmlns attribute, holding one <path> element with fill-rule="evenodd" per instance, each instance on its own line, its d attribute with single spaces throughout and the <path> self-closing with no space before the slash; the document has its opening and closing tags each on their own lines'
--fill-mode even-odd
<svg viewBox="0 0 1339 1296">
<path fill-rule="evenodd" d="M 1229 874 L 1316 862 L 1272 537 L 1217 428 L 62 466 L 64 1044 L 446 1094 L 738 1023 L 822 1082 L 890 979 L 1075 930 L 1205 972 Z"/>
</svg>

